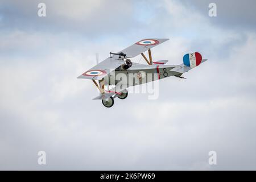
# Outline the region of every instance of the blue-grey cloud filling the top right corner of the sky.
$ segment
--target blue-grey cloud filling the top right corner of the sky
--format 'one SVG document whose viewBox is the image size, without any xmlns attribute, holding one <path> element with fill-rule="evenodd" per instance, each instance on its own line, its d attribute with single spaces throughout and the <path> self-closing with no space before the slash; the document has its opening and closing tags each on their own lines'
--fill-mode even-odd
<svg viewBox="0 0 256 182">
<path fill-rule="evenodd" d="M 255 31 L 256 24 L 256 2 L 253 0 L 246 1 L 181 1 L 185 6 L 192 7 L 196 11 L 200 11 L 201 15 L 209 18 L 208 5 L 216 3 L 217 17 L 209 18 L 212 24 L 237 31 L 251 30 Z M 203 26 L 203 25 L 202 25 Z"/>
</svg>

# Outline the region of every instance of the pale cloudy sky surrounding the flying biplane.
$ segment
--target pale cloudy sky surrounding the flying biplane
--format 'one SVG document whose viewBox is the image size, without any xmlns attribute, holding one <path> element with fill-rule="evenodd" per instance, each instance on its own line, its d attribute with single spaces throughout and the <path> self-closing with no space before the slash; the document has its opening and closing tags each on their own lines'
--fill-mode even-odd
<svg viewBox="0 0 256 182">
<path fill-rule="evenodd" d="M 255 24 L 253 0 L 0 0 L 0 169 L 255 170 Z M 154 60 L 178 65 L 197 51 L 208 61 L 160 80 L 156 100 L 92 100 L 97 88 L 77 76 L 95 54 L 146 38 L 170 38 Z"/>
</svg>

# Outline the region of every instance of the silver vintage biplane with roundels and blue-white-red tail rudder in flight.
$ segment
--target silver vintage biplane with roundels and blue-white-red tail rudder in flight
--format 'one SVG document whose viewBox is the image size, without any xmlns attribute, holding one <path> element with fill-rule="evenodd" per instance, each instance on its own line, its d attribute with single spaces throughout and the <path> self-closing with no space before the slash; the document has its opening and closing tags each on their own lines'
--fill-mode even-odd
<svg viewBox="0 0 256 182">
<path fill-rule="evenodd" d="M 112 107 L 114 98 L 125 99 L 128 96 L 127 88 L 129 86 L 144 84 L 170 76 L 184 78 L 181 76 L 183 73 L 207 60 L 202 60 L 200 53 L 194 52 L 185 54 L 183 56 L 183 64 L 180 65 L 165 65 L 168 60 L 152 61 L 151 48 L 166 42 L 166 40 L 169 39 L 143 39 L 117 53 L 110 52 L 110 56 L 107 59 L 82 73 L 78 78 L 92 80 L 100 90 L 100 96 L 93 99 L 102 100 L 104 106 Z M 144 55 L 146 51 L 148 51 L 148 59 Z M 129 59 L 140 54 L 146 60 L 147 65 L 132 63 Z M 114 85 L 115 87 L 106 90 L 105 85 Z"/>
</svg>

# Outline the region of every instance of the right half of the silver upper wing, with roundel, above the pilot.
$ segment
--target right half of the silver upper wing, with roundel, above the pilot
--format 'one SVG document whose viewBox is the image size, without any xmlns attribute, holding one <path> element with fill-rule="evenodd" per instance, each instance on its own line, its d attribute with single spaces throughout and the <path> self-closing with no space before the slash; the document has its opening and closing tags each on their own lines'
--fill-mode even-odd
<svg viewBox="0 0 256 182">
<path fill-rule="evenodd" d="M 166 42 L 166 40 L 169 39 L 143 39 L 131 45 L 130 47 L 123 49 L 120 52 L 125 53 L 126 57 L 135 57 L 152 47 L 158 46 L 159 44 Z"/>
</svg>

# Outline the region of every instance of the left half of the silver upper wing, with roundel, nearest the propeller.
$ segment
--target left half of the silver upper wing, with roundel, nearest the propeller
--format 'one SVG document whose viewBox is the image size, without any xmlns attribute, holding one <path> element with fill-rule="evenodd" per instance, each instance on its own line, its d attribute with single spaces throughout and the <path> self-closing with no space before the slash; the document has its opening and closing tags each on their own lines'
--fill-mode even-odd
<svg viewBox="0 0 256 182">
<path fill-rule="evenodd" d="M 123 60 L 118 59 L 118 56 L 108 57 L 104 61 L 101 61 L 101 63 L 97 64 L 95 67 L 92 67 L 88 71 L 82 73 L 82 75 L 77 78 L 101 80 L 122 64 Z"/>
</svg>

